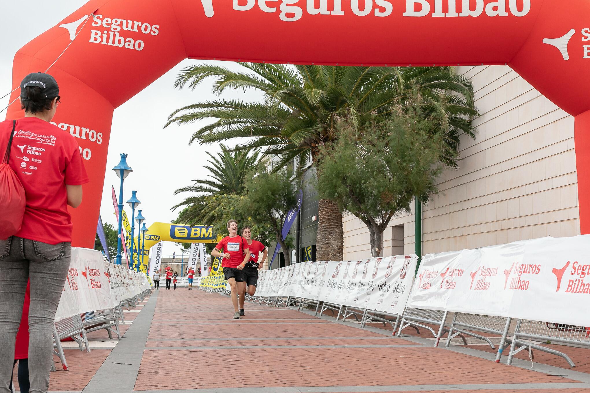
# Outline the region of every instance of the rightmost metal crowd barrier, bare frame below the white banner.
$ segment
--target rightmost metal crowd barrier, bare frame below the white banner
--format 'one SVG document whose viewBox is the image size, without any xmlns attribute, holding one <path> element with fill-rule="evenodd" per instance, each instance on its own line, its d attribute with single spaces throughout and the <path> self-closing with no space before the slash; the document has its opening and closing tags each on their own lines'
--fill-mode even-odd
<svg viewBox="0 0 590 393">
<path fill-rule="evenodd" d="M 529 342 L 526 342 L 524 339 L 528 339 Z M 568 355 L 555 349 L 547 348 L 546 346 L 533 344 L 530 342 L 531 340 L 548 342 L 548 344 L 549 342 L 557 342 L 566 345 L 590 347 L 590 331 L 583 326 L 518 319 L 516 321 L 516 329 L 514 329 L 507 364 L 512 364 L 514 355 L 523 349 L 529 349 L 530 351 L 530 349 L 534 348 L 547 352 L 548 354 L 561 356 L 571 367 L 575 367 L 574 362 Z M 518 349 L 516 348 L 517 345 L 519 346 Z"/>
</svg>

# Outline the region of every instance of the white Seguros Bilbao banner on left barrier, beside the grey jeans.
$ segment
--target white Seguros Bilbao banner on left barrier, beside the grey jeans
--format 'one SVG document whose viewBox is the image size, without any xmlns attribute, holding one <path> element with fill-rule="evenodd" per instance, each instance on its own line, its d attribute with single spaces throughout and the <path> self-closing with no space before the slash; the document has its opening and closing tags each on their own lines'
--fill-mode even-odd
<svg viewBox="0 0 590 393">
<path fill-rule="evenodd" d="M 55 321 L 111 307 L 109 276 L 102 253 L 72 247 L 70 269 L 57 306 Z"/>
</svg>

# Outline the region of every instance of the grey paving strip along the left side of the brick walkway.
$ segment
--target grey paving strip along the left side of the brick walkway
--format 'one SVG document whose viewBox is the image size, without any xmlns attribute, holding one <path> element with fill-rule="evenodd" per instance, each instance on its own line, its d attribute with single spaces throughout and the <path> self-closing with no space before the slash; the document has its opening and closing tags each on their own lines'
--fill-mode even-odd
<svg viewBox="0 0 590 393">
<path fill-rule="evenodd" d="M 142 312 L 137 314 L 122 341 L 113 348 L 99 371 L 86 385 L 84 393 L 133 391 L 157 300 L 158 292 L 156 291 L 152 293 Z"/>
</svg>

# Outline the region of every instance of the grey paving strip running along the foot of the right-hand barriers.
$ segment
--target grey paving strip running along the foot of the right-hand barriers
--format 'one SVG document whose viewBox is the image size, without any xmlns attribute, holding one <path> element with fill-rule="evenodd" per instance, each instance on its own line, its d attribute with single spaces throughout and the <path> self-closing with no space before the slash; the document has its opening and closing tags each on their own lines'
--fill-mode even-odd
<svg viewBox="0 0 590 393">
<path fill-rule="evenodd" d="M 307 310 L 304 310 L 302 312 L 304 312 L 308 315 L 313 315 L 313 313 L 314 313 L 314 311 L 307 311 Z M 342 325 L 347 325 L 347 326 L 351 326 L 353 328 L 360 329 L 360 325 L 358 323 L 353 323 L 353 322 L 348 322 L 348 321 L 336 322 L 336 321 L 334 321 L 334 318 L 329 317 L 329 316 L 325 316 L 325 315 L 322 315 L 322 316 L 317 315 L 317 318 L 322 318 L 322 319 L 325 319 L 326 321 L 332 320 L 332 322 L 334 322 L 334 323 L 340 323 Z M 381 333 L 383 335 L 388 335 L 389 337 L 393 337 L 391 335 L 391 331 L 386 331 L 386 330 L 380 329 L 380 328 L 374 328 L 373 326 L 365 326 L 365 330 L 375 332 L 375 333 Z M 432 340 L 427 339 L 427 338 L 422 338 L 422 337 L 418 337 L 418 336 L 410 336 L 410 335 L 405 335 L 405 334 L 402 334 L 400 336 L 400 338 L 404 338 L 408 341 L 415 342 L 416 344 L 422 344 L 424 346 L 429 346 L 431 348 L 434 346 L 434 344 L 432 343 Z M 442 351 L 459 352 L 461 354 L 475 356 L 476 358 L 486 359 L 489 361 L 494 361 L 494 359 L 496 358 L 495 353 L 490 353 L 490 352 L 486 352 L 486 351 L 479 351 L 478 349 L 466 348 L 464 346 L 452 345 L 449 348 L 445 348 L 445 346 L 444 346 L 445 341 L 446 340 L 441 339 L 438 349 L 441 349 Z M 506 365 L 507 352 L 505 352 L 505 354 L 506 355 L 502 356 L 501 362 L 504 364 L 504 366 L 507 366 Z M 565 363 L 565 361 L 563 361 L 563 362 Z M 525 360 L 517 359 L 517 358 L 513 359 L 512 366 L 526 368 L 529 370 L 531 369 L 530 361 L 525 361 Z M 540 364 L 540 363 L 536 363 L 536 362 L 533 364 L 532 370 L 539 371 L 539 372 L 542 372 L 544 374 L 549 374 L 549 375 L 561 375 L 564 378 L 573 379 L 574 381 L 584 382 L 585 384 L 590 384 L 590 374 L 586 374 L 585 372 L 574 371 L 571 369 L 561 368 L 561 367 L 557 367 L 557 366 L 549 366 L 546 364 Z M 584 388 L 584 386 L 580 386 L 580 387 Z"/>
</svg>

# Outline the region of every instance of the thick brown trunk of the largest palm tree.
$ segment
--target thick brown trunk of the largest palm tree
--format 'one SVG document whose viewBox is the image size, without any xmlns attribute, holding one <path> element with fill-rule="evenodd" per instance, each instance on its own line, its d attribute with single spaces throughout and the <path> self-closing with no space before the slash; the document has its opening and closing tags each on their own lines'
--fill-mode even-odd
<svg viewBox="0 0 590 393">
<path fill-rule="evenodd" d="M 335 202 L 320 199 L 317 203 L 316 259 L 342 260 L 344 251 L 344 232 L 342 212 Z"/>
</svg>

